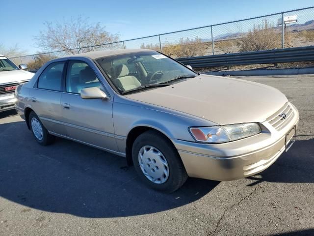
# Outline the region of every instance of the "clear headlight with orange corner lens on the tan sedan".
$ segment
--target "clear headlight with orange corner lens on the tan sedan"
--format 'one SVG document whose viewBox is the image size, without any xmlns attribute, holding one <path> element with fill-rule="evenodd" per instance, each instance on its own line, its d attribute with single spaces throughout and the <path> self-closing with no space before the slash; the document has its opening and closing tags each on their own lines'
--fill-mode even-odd
<svg viewBox="0 0 314 236">
<path fill-rule="evenodd" d="M 225 143 L 261 133 L 258 123 L 230 124 L 210 127 L 191 127 L 190 133 L 198 142 Z"/>
</svg>

